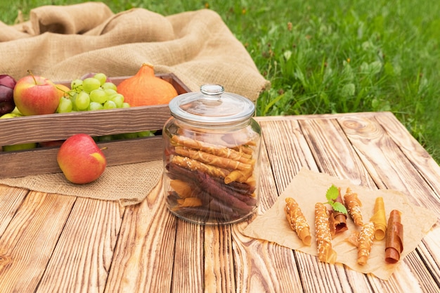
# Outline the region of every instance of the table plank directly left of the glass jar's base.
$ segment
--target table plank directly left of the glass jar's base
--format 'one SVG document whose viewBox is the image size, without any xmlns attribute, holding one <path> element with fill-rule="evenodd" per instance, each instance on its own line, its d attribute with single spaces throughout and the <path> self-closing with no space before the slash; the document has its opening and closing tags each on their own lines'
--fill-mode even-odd
<svg viewBox="0 0 440 293">
<path fill-rule="evenodd" d="M 158 183 L 140 204 L 126 207 L 104 292 L 170 292 L 176 218 Z"/>
</svg>

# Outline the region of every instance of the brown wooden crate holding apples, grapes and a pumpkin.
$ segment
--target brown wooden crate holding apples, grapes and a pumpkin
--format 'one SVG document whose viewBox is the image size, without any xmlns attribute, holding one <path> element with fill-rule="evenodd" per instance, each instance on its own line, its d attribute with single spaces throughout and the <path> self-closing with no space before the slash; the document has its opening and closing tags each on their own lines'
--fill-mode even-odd
<svg viewBox="0 0 440 293">
<path fill-rule="evenodd" d="M 171 83 L 177 93 L 190 91 L 174 74 L 157 74 Z M 112 78 L 119 84 L 127 77 Z M 68 84 L 65 82 L 61 84 Z M 74 134 L 104 136 L 145 130 L 161 130 L 169 119 L 168 105 L 112 110 L 72 112 L 0 119 L 0 145 L 41 143 L 69 138 Z M 106 147 L 108 166 L 162 159 L 162 136 L 98 143 Z M 60 172 L 56 155 L 59 147 L 0 152 L 0 178 Z"/>
</svg>

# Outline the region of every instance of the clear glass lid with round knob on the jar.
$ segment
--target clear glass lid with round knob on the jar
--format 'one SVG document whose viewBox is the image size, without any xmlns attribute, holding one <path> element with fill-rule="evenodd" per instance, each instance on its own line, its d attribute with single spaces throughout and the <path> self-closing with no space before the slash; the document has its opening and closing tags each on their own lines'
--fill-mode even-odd
<svg viewBox="0 0 440 293">
<path fill-rule="evenodd" d="M 244 122 L 254 115 L 251 100 L 224 91 L 219 84 L 204 84 L 199 93 L 183 93 L 169 102 L 171 114 L 183 122 L 226 126 Z"/>
</svg>

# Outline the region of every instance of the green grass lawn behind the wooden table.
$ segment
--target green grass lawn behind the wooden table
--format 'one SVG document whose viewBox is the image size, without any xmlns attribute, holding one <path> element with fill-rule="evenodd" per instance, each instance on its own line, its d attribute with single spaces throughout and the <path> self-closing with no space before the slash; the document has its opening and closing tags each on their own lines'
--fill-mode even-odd
<svg viewBox="0 0 440 293">
<path fill-rule="evenodd" d="M 0 4 L 18 11 L 76 0 Z M 147 1 L 108 0 L 113 12 L 132 7 L 163 15 L 209 8 L 221 15 L 271 81 L 257 115 L 394 112 L 440 162 L 440 1 Z"/>
</svg>

